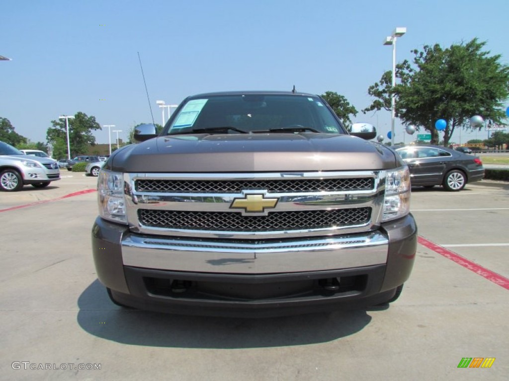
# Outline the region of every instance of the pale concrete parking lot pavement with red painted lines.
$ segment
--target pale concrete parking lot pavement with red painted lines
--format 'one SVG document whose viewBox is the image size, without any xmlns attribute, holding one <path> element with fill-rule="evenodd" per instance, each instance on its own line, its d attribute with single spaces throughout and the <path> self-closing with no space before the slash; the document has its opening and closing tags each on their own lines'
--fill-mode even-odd
<svg viewBox="0 0 509 381">
<path fill-rule="evenodd" d="M 62 175 L 0 193 L 0 379 L 507 379 L 509 183 L 413 190 L 416 264 L 390 307 L 242 320 L 111 304 L 91 252 L 96 178 Z"/>
</svg>

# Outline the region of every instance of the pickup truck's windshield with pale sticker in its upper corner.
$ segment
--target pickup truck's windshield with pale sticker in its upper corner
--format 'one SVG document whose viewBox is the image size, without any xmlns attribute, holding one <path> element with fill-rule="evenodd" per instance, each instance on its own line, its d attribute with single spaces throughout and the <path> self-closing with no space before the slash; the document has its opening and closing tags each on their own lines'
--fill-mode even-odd
<svg viewBox="0 0 509 381">
<path fill-rule="evenodd" d="M 166 125 L 163 134 L 284 131 L 346 133 L 319 97 L 232 94 L 188 100 Z"/>
</svg>

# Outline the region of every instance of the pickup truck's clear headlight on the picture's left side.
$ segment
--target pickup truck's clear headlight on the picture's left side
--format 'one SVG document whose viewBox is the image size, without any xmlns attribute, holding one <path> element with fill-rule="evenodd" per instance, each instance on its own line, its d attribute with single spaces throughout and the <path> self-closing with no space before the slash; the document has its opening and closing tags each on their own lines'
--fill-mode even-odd
<svg viewBox="0 0 509 381">
<path fill-rule="evenodd" d="M 101 169 L 97 181 L 99 215 L 110 221 L 127 224 L 124 198 L 124 175 Z"/>
</svg>

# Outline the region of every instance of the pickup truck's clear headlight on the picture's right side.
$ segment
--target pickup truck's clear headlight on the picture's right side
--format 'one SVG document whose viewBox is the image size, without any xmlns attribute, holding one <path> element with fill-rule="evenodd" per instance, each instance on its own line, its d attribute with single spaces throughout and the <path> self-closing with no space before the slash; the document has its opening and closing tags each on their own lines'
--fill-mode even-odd
<svg viewBox="0 0 509 381">
<path fill-rule="evenodd" d="M 408 167 L 388 170 L 385 177 L 382 221 L 400 218 L 408 213 L 410 213 L 410 172 Z"/>
</svg>

